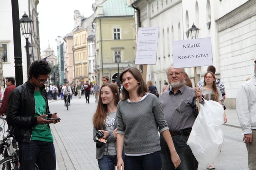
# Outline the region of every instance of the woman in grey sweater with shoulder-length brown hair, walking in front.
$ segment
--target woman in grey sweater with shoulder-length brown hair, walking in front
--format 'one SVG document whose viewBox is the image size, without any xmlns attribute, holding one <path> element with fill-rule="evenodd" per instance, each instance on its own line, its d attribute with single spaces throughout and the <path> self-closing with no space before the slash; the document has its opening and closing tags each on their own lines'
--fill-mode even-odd
<svg viewBox="0 0 256 170">
<path fill-rule="evenodd" d="M 180 158 L 172 142 L 159 99 L 148 93 L 147 85 L 137 68 L 125 69 L 119 80 L 123 85 L 123 98 L 117 107 L 117 169 L 161 170 L 158 129 L 168 144 L 170 159 L 178 167 Z"/>
</svg>

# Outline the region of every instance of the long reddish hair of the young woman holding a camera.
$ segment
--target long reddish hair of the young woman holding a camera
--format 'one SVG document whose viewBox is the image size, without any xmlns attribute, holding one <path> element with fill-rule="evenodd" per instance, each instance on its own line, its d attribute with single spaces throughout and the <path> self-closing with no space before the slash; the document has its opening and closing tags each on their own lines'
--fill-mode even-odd
<svg viewBox="0 0 256 170">
<path fill-rule="evenodd" d="M 97 110 L 93 116 L 93 124 L 94 124 L 94 127 L 96 128 L 96 130 L 106 128 L 105 127 L 105 119 L 107 117 L 108 110 L 107 110 L 107 104 L 103 104 L 102 99 L 101 99 L 101 90 L 103 87 L 109 87 L 111 89 L 113 96 L 115 96 L 114 105 L 117 106 L 117 104 L 120 100 L 117 85 L 115 85 L 113 83 L 105 83 L 104 85 L 101 86 L 100 91 L 99 91 Z"/>
</svg>

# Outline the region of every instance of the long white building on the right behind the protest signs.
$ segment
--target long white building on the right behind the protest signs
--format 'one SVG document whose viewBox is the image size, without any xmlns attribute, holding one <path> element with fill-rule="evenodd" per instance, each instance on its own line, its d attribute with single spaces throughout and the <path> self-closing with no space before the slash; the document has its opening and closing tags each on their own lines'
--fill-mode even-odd
<svg viewBox="0 0 256 170">
<path fill-rule="evenodd" d="M 225 85 L 225 105 L 235 108 L 236 90 L 253 75 L 256 51 L 256 1 L 254 0 L 136 0 L 137 27 L 159 27 L 156 65 L 148 66 L 147 79 L 158 89 L 167 81 L 166 69 L 173 64 L 172 42 L 190 39 L 192 24 L 200 29 L 198 38 L 211 37 L 216 77 Z M 168 19 L 168 20 L 166 20 Z M 207 66 L 186 68 L 194 83 L 203 79 Z M 195 84 L 194 84 L 195 85 Z"/>
</svg>

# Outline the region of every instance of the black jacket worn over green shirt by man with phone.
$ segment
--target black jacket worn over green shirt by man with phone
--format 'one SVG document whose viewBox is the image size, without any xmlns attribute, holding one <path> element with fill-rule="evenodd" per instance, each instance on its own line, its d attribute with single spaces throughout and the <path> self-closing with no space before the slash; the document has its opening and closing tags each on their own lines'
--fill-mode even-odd
<svg viewBox="0 0 256 170">
<path fill-rule="evenodd" d="M 35 117 L 35 87 L 29 82 L 16 87 L 9 96 L 7 106 L 7 123 L 12 126 L 15 139 L 20 142 L 30 142 L 33 126 L 37 125 Z M 46 101 L 46 113 L 49 113 L 45 86 L 41 87 L 41 93 Z"/>
</svg>

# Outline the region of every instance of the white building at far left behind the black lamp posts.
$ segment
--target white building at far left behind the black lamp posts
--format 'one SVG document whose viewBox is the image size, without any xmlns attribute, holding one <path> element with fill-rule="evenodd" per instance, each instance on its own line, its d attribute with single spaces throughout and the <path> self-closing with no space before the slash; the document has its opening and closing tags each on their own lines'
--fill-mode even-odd
<svg viewBox="0 0 256 170">
<path fill-rule="evenodd" d="M 30 54 L 31 62 L 40 59 L 38 3 L 39 0 L 19 0 L 19 17 L 22 18 L 25 11 L 28 17 L 33 20 L 31 35 L 29 37 L 29 42 L 32 45 L 32 53 Z M 2 53 L 3 76 L 15 77 L 12 4 L 9 0 L 2 0 L 0 6 L 0 44 L 4 48 Z M 22 35 L 22 31 L 20 39 L 22 47 L 23 82 L 25 82 L 28 79 L 27 54 L 25 48 L 23 48 L 26 46 L 26 40 Z"/>
</svg>

